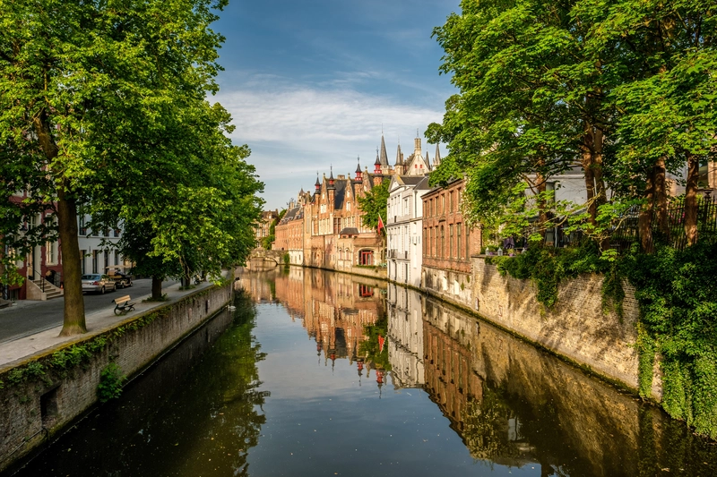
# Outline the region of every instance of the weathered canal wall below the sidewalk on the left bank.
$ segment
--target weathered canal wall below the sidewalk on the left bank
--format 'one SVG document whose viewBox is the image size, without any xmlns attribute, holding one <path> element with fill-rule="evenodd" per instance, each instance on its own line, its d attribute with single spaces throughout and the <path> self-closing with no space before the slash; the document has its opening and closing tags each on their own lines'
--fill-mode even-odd
<svg viewBox="0 0 717 477">
<path fill-rule="evenodd" d="M 95 405 L 109 363 L 133 377 L 224 308 L 231 293 L 232 284 L 212 286 L 0 367 L 0 472 Z"/>
</svg>

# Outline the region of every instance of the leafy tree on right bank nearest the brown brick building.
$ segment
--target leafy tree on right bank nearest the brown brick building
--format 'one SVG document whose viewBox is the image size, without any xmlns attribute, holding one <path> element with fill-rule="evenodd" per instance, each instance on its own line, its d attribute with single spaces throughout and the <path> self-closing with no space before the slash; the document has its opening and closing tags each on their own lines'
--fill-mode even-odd
<svg viewBox="0 0 717 477">
<path fill-rule="evenodd" d="M 428 141 L 449 145 L 439 170 L 468 175 L 476 222 L 495 220 L 523 183 L 541 227 L 552 226 L 546 183 L 582 166 L 587 200 L 575 206 L 588 209 L 595 225 L 597 207 L 606 198 L 604 87 L 600 68 L 583 52 L 585 27 L 571 20 L 571 6 L 542 0 L 463 2 L 462 14 L 434 30 L 445 49 L 441 71 L 453 75 L 461 93 L 446 101 L 444 122 L 429 127 Z M 435 175 L 432 183 L 450 175 Z M 499 215 L 513 217 L 514 209 Z"/>
</svg>

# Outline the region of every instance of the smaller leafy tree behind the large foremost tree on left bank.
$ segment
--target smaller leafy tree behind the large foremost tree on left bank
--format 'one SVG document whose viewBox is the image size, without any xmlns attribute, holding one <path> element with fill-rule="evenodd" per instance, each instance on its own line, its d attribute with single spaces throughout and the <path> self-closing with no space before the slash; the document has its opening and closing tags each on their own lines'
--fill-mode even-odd
<svg viewBox="0 0 717 477">
<path fill-rule="evenodd" d="M 243 263 L 254 248 L 253 226 L 263 205 L 256 195 L 263 183 L 246 164 L 249 149 L 227 137 L 233 131 L 227 111 L 202 100 L 182 112 L 182 121 L 173 126 L 177 141 L 160 152 L 174 157 L 163 178 L 147 181 L 137 174 L 123 188 L 130 197 L 151 192 L 152 199 L 95 209 L 122 217 L 129 226 L 121 251 L 136 261 L 140 273 L 152 276 L 156 299 L 165 277 L 182 277 L 188 284 L 196 273 L 219 277 L 221 268 Z"/>
</svg>

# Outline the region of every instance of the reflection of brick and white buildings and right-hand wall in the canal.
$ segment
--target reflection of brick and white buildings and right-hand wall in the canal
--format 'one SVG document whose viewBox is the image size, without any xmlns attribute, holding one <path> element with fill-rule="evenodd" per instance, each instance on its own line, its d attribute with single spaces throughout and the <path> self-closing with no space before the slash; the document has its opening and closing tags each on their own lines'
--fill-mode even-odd
<svg viewBox="0 0 717 477">
<path fill-rule="evenodd" d="M 445 303 L 314 269 L 273 279 L 272 299 L 324 360 L 376 370 L 379 388 L 424 389 L 476 461 L 536 475 L 717 474 L 715 447 L 679 422 Z M 256 280 L 242 285 L 262 290 Z"/>
</svg>

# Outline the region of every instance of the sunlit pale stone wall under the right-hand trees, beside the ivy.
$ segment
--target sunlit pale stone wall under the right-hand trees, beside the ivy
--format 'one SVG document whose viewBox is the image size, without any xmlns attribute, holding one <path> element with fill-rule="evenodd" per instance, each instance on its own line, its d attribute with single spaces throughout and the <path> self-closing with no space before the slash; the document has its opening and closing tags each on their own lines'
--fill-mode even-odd
<svg viewBox="0 0 717 477">
<path fill-rule="evenodd" d="M 602 278 L 582 275 L 558 287 L 557 303 L 546 310 L 536 299 L 530 280 L 501 277 L 484 258 L 473 259 L 472 308 L 480 316 L 538 343 L 600 376 L 635 391 L 638 353 L 635 349 L 639 316 L 634 290 L 624 284 L 624 316 L 602 309 Z M 653 396 L 661 397 L 660 379 Z"/>
</svg>

